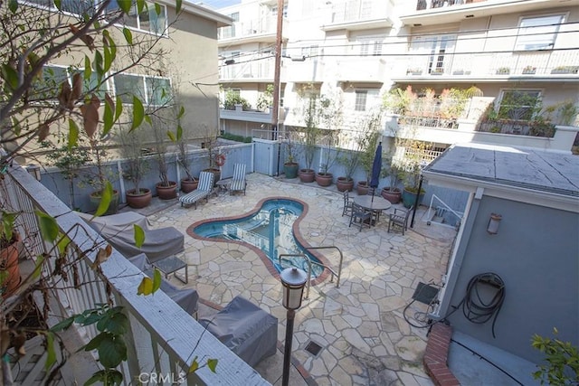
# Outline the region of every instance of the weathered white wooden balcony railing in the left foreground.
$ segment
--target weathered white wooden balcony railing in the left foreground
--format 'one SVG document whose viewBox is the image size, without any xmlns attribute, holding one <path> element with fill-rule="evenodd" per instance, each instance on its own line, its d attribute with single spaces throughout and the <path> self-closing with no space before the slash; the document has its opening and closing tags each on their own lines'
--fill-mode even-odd
<svg viewBox="0 0 579 386">
<path fill-rule="evenodd" d="M 105 245 L 105 240 L 23 168 L 10 167 L 4 177 L 0 180 L 0 204 L 3 209 L 21 212 L 17 229 L 23 236 L 24 249 L 29 251 L 28 259 L 51 249 L 40 237 L 34 211 L 55 218 L 60 231 L 71 239 L 73 248 L 69 249 L 66 264 L 58 262 L 61 267 L 69 267 L 68 280 L 52 274 L 55 259 L 49 257 L 44 262 L 46 285 L 52 288 L 52 301 L 59 304 L 50 314 L 64 318 L 109 301 L 124 307 L 129 320 L 128 333 L 123 336 L 128 345 L 128 361 L 122 362 L 119 371 L 125 384 L 134 382 L 142 373 L 155 373 L 156 379 L 163 377 L 188 385 L 237 384 L 240 379 L 246 385 L 269 384 L 163 292 L 138 296 L 143 274 L 116 250 L 100 264 L 100 269 L 93 268 L 97 247 Z M 94 328 L 84 328 L 81 333 L 84 343 L 96 335 Z M 206 367 L 188 373 L 195 356 L 217 359 L 216 373 Z M 86 375 L 88 379 L 91 374 Z"/>
</svg>

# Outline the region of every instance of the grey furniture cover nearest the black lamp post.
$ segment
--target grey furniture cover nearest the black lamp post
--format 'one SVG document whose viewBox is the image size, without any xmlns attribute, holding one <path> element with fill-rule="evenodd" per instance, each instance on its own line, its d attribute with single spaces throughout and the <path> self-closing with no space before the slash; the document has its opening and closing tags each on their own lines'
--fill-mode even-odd
<svg viewBox="0 0 579 386">
<path fill-rule="evenodd" d="M 250 366 L 276 352 L 278 318 L 244 297 L 233 297 L 221 311 L 199 323 Z"/>
</svg>

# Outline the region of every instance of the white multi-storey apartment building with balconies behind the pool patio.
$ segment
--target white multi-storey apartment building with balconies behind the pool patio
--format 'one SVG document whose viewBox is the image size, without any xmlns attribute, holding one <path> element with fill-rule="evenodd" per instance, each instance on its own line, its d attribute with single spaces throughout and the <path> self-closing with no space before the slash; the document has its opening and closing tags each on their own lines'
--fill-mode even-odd
<svg viewBox="0 0 579 386">
<path fill-rule="evenodd" d="M 274 80 L 277 1 L 242 0 L 219 11 L 235 20 L 219 36 L 222 100 L 231 90 L 252 106 L 222 109 L 220 126 L 255 136 L 271 124 L 268 109 L 255 110 Z M 470 141 L 571 149 L 577 0 L 286 0 L 283 13 L 280 123 L 286 127 L 304 126 L 304 89 L 339 101 L 340 128 L 356 130 L 390 90 L 410 86 L 419 100 L 432 93 L 432 117 L 386 115 L 386 146 L 397 131 L 439 150 Z M 448 117 L 440 106 L 450 89 L 469 92 L 460 114 Z M 522 122 L 539 117 L 557 125 L 555 137 Z"/>
</svg>

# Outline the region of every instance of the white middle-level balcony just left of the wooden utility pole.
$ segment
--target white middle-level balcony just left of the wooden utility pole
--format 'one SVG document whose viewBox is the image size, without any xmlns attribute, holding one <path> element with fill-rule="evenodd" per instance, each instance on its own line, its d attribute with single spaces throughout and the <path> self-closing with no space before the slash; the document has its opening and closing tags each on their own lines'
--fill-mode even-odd
<svg viewBox="0 0 579 386">
<path fill-rule="evenodd" d="M 243 62 L 225 65 L 219 69 L 219 80 L 234 82 L 272 82 L 275 58 L 243 59 Z"/>
</svg>

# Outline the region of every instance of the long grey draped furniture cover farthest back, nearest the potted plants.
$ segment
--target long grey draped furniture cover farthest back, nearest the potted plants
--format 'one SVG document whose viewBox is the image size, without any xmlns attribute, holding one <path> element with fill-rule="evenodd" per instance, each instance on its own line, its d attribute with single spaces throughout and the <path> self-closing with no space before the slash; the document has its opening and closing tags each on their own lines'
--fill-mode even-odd
<svg viewBox="0 0 579 386">
<path fill-rule="evenodd" d="M 78 212 L 78 215 L 124 256 L 135 256 L 143 252 L 150 261 L 155 262 L 184 249 L 183 233 L 175 227 L 149 230 L 147 217 L 137 212 L 123 212 L 95 218 L 81 212 Z M 140 248 L 135 245 L 133 224 L 137 224 L 145 231 L 145 242 Z"/>
</svg>

